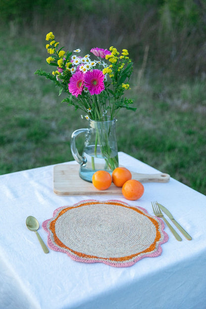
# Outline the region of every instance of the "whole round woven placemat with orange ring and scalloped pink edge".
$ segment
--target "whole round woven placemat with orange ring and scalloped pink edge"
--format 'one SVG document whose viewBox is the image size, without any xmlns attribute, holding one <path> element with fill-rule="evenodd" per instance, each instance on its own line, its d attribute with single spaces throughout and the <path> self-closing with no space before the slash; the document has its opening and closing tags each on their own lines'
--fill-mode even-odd
<svg viewBox="0 0 206 309">
<path fill-rule="evenodd" d="M 168 239 L 163 227 L 145 209 L 116 200 L 60 207 L 43 222 L 51 249 L 77 261 L 117 267 L 160 255 L 160 245 Z"/>
</svg>

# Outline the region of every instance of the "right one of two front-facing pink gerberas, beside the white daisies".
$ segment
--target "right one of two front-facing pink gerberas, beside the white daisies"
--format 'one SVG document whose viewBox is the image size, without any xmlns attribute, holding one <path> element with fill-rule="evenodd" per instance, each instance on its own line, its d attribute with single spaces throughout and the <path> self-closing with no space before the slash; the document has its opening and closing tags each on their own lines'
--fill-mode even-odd
<svg viewBox="0 0 206 309">
<path fill-rule="evenodd" d="M 99 95 L 104 90 L 103 72 L 96 69 L 84 74 L 84 86 L 88 88 L 91 95 Z"/>
</svg>

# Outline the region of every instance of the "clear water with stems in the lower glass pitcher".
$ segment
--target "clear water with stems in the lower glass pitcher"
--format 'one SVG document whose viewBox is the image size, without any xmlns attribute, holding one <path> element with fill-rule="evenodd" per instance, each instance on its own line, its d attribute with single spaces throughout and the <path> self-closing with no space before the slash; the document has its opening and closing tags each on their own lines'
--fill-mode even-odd
<svg viewBox="0 0 206 309">
<path fill-rule="evenodd" d="M 87 163 L 80 166 L 79 176 L 89 182 L 92 182 L 92 176 L 97 170 L 106 170 L 111 174 L 112 170 L 118 166 L 118 152 L 112 149 L 107 158 L 102 154 L 100 146 L 97 146 L 95 152 L 95 146 L 90 145 L 85 147 L 82 156 L 86 157 Z"/>
</svg>

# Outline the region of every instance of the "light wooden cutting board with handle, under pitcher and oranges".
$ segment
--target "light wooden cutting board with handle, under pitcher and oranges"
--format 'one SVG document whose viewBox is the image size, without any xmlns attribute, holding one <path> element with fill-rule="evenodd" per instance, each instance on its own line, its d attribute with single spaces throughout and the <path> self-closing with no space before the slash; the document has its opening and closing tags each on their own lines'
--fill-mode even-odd
<svg viewBox="0 0 206 309">
<path fill-rule="evenodd" d="M 140 174 L 132 172 L 132 178 L 140 182 L 168 182 L 168 174 Z M 106 190 L 96 189 L 92 183 L 79 177 L 79 164 L 59 164 L 53 168 L 53 192 L 60 196 L 69 195 L 122 195 L 121 188 L 113 183 Z"/>
</svg>

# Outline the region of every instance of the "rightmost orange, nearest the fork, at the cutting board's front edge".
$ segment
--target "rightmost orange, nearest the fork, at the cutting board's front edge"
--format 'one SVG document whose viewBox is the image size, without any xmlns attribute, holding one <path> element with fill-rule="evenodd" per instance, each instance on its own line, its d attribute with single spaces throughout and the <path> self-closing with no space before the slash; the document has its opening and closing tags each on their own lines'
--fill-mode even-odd
<svg viewBox="0 0 206 309">
<path fill-rule="evenodd" d="M 123 184 L 122 194 L 125 199 L 135 201 L 141 198 L 145 189 L 141 182 L 135 179 L 130 179 Z"/>
</svg>

